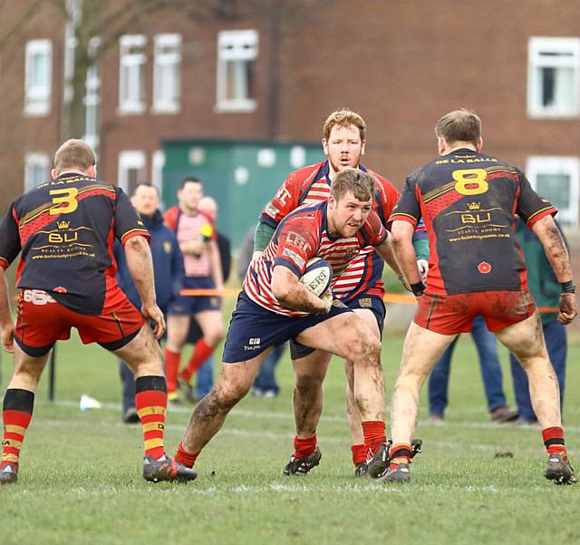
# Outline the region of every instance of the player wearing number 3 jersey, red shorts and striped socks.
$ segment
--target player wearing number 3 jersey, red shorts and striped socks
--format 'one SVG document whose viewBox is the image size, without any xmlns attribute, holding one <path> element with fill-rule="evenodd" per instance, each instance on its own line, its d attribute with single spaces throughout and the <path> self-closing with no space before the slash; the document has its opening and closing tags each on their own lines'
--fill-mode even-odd
<svg viewBox="0 0 580 545">
<path fill-rule="evenodd" d="M 150 234 L 117 186 L 96 179 L 96 160 L 83 141 L 56 151 L 52 181 L 15 200 L 0 223 L 0 326 L 14 352 L 14 375 L 3 405 L 0 483 L 16 482 L 34 392 L 55 341 L 76 327 L 84 344 L 99 343 L 127 362 L 136 377 L 135 406 L 143 426 L 143 477 L 190 481 L 196 474 L 163 446 L 167 386 L 156 340 L 165 330 L 155 303 Z M 113 240 L 120 238 L 142 301 L 139 312 L 115 280 Z M 5 268 L 21 253 L 14 326 Z M 155 322 L 151 331 L 149 320 Z"/>
</svg>

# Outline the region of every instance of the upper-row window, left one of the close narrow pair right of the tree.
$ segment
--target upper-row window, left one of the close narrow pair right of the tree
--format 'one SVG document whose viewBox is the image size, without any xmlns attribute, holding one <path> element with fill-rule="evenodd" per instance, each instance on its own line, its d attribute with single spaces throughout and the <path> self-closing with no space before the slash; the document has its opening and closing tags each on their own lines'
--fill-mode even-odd
<svg viewBox="0 0 580 545">
<path fill-rule="evenodd" d="M 119 111 L 145 111 L 145 44 L 140 34 L 121 36 L 119 61 Z"/>
</svg>

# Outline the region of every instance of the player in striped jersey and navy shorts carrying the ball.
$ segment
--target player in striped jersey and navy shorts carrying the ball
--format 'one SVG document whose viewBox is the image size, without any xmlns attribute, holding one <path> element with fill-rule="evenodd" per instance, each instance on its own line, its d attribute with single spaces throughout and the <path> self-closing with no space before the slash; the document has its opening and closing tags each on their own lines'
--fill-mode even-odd
<svg viewBox="0 0 580 545">
<path fill-rule="evenodd" d="M 301 345 L 353 362 L 354 402 L 369 423 L 365 447 L 377 472 L 387 467 L 382 456 L 386 438 L 380 340 L 352 309 L 333 301 L 330 290 L 323 298 L 315 297 L 299 281 L 310 258 L 327 259 L 341 273 L 369 245 L 382 256 L 391 255 L 387 231 L 372 210 L 374 191 L 370 174 L 342 170 L 329 199 L 286 216 L 264 253 L 252 260 L 227 333 L 221 374 L 196 407 L 176 461 L 193 465 L 227 413 L 247 394 L 266 355 L 275 345 L 296 338 Z"/>
</svg>

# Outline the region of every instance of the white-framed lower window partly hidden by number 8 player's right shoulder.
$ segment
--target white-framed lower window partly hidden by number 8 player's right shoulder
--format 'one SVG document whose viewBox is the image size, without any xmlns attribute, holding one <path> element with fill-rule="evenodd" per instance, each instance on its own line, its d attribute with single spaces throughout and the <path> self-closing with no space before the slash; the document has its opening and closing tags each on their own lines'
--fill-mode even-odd
<svg viewBox="0 0 580 545">
<path fill-rule="evenodd" d="M 580 160 L 577 157 L 530 157 L 527 179 L 542 197 L 558 209 L 557 219 L 578 225 Z"/>
</svg>

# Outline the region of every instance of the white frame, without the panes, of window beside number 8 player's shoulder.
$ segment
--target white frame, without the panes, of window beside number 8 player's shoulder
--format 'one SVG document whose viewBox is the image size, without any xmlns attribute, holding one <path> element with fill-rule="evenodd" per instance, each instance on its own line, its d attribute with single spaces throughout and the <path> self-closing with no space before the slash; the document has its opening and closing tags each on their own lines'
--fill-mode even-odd
<svg viewBox="0 0 580 545">
<path fill-rule="evenodd" d="M 537 191 L 538 174 L 566 174 L 570 177 L 568 207 L 558 209 L 557 219 L 562 223 L 578 225 L 580 200 L 580 159 L 577 157 L 533 156 L 527 158 L 526 175 Z M 540 194 L 541 195 L 541 194 Z"/>
</svg>

